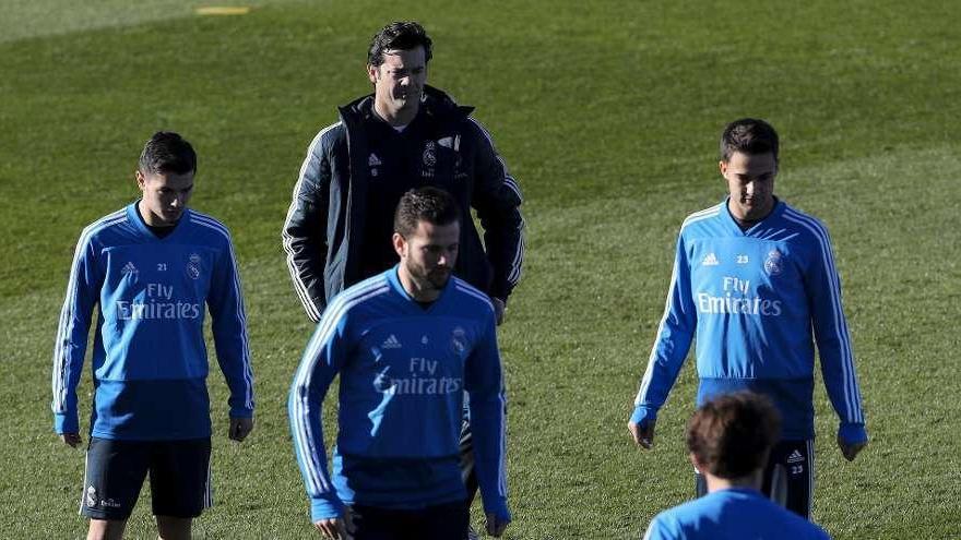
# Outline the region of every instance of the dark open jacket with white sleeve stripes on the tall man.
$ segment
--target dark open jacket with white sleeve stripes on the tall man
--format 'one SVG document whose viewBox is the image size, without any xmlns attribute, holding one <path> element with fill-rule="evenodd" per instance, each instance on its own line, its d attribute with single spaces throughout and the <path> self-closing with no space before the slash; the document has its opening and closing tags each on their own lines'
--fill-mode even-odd
<svg viewBox="0 0 961 540">
<path fill-rule="evenodd" d="M 426 123 L 422 180 L 450 192 L 465 213 L 454 274 L 489 296 L 507 301 L 521 277 L 524 220 L 521 190 L 497 154 L 490 135 L 471 118 L 473 107 L 456 105 L 426 86 L 420 104 Z M 317 134 L 300 167 L 283 241 L 294 289 L 315 322 L 340 291 L 363 275 L 364 224 L 371 170 L 365 120 L 373 96 L 340 107 L 340 121 Z M 484 242 L 470 208 L 477 212 Z M 389 241 L 389 239 L 384 239 Z M 485 251 L 486 245 L 486 251 Z"/>
</svg>

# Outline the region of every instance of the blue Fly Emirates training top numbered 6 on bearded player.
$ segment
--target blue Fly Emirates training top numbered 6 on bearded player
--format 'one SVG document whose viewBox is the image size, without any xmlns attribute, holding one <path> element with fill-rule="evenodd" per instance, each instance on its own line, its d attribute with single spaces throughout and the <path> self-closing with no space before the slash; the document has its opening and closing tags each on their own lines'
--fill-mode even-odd
<svg viewBox="0 0 961 540">
<path fill-rule="evenodd" d="M 330 475 L 321 405 L 337 374 Z M 487 296 L 451 277 L 425 309 L 396 266 L 337 295 L 288 401 L 312 520 L 337 517 L 344 504 L 414 509 L 466 499 L 458 455 L 465 391 L 484 509 L 509 519 L 505 392 Z"/>
</svg>

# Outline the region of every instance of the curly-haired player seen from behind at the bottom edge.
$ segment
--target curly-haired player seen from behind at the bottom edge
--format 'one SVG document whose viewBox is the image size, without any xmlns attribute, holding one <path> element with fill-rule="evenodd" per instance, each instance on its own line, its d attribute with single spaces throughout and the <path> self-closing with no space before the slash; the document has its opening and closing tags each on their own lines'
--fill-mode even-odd
<svg viewBox="0 0 961 540">
<path fill-rule="evenodd" d="M 655 516 L 644 540 L 828 540 L 758 491 L 779 423 L 770 400 L 750 392 L 702 405 L 688 423 L 687 448 L 708 494 Z"/>
</svg>

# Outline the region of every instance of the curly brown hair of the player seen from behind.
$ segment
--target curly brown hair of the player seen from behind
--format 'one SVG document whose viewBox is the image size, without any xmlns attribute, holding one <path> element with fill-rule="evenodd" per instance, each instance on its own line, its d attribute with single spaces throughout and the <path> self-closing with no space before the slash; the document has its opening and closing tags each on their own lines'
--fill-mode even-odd
<svg viewBox="0 0 961 540">
<path fill-rule="evenodd" d="M 703 404 L 687 425 L 687 447 L 707 472 L 740 478 L 761 468 L 781 430 L 771 400 L 751 392 Z"/>
</svg>

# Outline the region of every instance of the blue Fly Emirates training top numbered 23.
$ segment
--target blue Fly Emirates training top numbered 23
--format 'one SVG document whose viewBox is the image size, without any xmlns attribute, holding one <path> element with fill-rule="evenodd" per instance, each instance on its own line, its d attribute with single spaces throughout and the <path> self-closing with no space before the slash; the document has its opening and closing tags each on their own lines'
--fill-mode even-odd
<svg viewBox="0 0 961 540">
<path fill-rule="evenodd" d="M 745 231 L 726 201 L 685 219 L 632 421 L 655 418 L 695 336 L 698 404 L 740 389 L 764 394 L 781 412 L 784 440 L 814 436 L 814 336 L 840 434 L 867 440 L 841 285 L 820 221 L 781 201 Z"/>
</svg>

